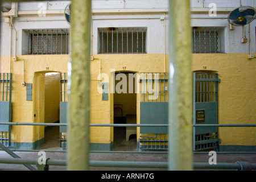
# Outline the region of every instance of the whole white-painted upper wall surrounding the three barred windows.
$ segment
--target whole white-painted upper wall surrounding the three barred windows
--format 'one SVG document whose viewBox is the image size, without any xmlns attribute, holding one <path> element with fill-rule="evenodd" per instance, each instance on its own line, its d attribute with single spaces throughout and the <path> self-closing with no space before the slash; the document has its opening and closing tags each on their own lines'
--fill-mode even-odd
<svg viewBox="0 0 256 182">
<path fill-rule="evenodd" d="M 19 11 L 40 10 L 46 7 L 47 10 L 64 10 L 70 1 L 44 1 L 42 2 L 22 2 L 18 4 Z M 239 7 L 240 0 L 221 1 L 221 0 L 191 0 L 192 8 L 208 7 L 209 3 L 216 3 L 218 7 Z M 242 0 L 242 6 L 254 6 L 253 0 Z M 93 0 L 93 9 L 167 9 L 168 0 Z M 163 13 L 144 13 L 144 14 L 94 14 L 93 19 L 93 54 L 97 54 L 98 46 L 98 28 L 102 27 L 147 27 L 147 53 L 164 53 L 164 28 L 163 20 L 160 16 Z M 223 27 L 224 28 L 224 46 L 225 53 L 248 53 L 249 43 L 241 43 L 242 27 L 236 27 L 235 30 L 229 30 L 228 13 L 217 14 L 216 17 L 210 17 L 208 12 L 191 15 L 192 27 Z M 56 16 L 19 16 L 14 18 L 14 26 L 17 34 L 17 55 L 22 52 L 22 30 L 24 29 L 53 29 L 69 28 L 63 15 Z M 166 53 L 168 53 L 168 15 L 166 15 Z M 256 22 L 251 23 L 251 43 L 252 50 L 255 53 L 255 27 Z M 249 26 L 245 26 L 246 38 L 248 38 Z M 13 45 L 15 32 L 13 31 Z M 1 19 L 1 55 L 10 55 L 10 26 Z M 13 46 L 14 55 L 14 46 Z"/>
</svg>

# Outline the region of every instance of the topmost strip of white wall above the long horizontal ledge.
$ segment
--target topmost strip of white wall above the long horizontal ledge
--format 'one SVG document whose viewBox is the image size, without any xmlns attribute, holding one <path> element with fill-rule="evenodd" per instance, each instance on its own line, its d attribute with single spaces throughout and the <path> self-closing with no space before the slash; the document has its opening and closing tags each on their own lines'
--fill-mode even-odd
<svg viewBox="0 0 256 182">
<path fill-rule="evenodd" d="M 19 11 L 39 10 L 39 3 L 46 3 L 47 10 L 62 10 L 71 1 L 21 2 Z M 190 0 L 192 8 L 254 6 L 254 0 Z M 168 8 L 168 0 L 92 0 L 92 9 L 145 9 Z"/>
</svg>

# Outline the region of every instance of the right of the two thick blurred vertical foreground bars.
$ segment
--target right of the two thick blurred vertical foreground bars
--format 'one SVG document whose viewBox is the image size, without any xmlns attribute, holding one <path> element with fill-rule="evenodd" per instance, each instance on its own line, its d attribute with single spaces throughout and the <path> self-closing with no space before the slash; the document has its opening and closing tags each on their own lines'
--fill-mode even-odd
<svg viewBox="0 0 256 182">
<path fill-rule="evenodd" d="M 169 1 L 169 170 L 192 170 L 192 38 L 189 4 L 188 0 Z"/>
</svg>

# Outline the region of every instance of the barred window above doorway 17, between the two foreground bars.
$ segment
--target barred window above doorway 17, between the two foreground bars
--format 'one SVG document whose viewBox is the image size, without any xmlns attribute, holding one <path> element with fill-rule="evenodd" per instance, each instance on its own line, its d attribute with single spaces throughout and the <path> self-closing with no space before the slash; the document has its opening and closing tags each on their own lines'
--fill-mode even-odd
<svg viewBox="0 0 256 182">
<path fill-rule="evenodd" d="M 146 27 L 98 28 L 98 53 L 147 53 Z"/>
</svg>

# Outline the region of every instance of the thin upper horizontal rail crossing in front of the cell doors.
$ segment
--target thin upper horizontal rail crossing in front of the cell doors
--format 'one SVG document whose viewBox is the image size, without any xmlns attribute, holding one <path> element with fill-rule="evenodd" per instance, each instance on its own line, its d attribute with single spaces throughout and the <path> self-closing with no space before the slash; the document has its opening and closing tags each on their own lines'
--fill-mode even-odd
<svg viewBox="0 0 256 182">
<path fill-rule="evenodd" d="M 68 126 L 67 123 L 21 123 L 2 122 L 0 125 L 25 125 L 25 126 Z M 90 126 L 105 127 L 168 127 L 168 124 L 90 124 Z M 193 127 L 256 127 L 256 124 L 196 124 Z"/>
</svg>

